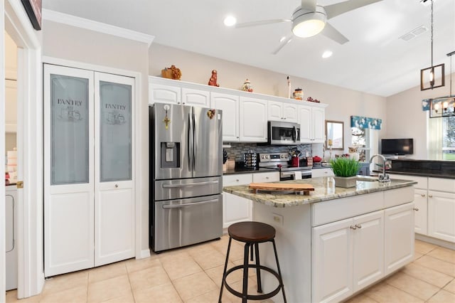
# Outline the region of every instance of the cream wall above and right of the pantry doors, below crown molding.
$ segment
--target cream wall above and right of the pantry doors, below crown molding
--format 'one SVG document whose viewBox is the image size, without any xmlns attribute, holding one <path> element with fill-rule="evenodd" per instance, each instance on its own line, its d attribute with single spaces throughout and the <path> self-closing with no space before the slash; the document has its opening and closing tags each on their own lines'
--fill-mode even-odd
<svg viewBox="0 0 455 303">
<path fill-rule="evenodd" d="M 110 36 L 104 33 L 76 28 L 61 23 L 43 20 L 43 55 L 72 60 L 81 63 L 128 70 L 141 73 L 139 117 L 141 121 L 139 161 L 141 195 L 136 197 L 141 203 L 141 250 L 149 249 L 149 111 L 148 111 L 148 60 L 146 43 Z"/>
</svg>

